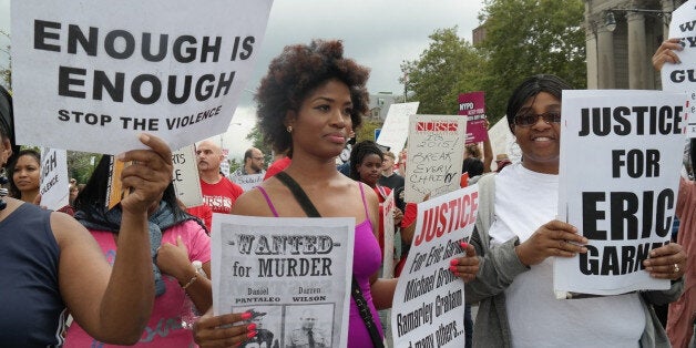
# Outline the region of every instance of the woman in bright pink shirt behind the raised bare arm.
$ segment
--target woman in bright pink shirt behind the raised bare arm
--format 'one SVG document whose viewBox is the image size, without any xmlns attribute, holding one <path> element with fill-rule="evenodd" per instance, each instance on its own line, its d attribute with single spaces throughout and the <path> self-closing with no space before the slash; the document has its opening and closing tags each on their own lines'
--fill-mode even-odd
<svg viewBox="0 0 696 348">
<path fill-rule="evenodd" d="M 75 198 L 74 215 L 85 226 L 109 263 L 122 256 L 119 225 L 123 208 L 116 205 L 106 209 L 110 185 L 111 156 L 104 155 L 94 168 L 86 186 Z M 211 238 L 204 223 L 185 213 L 177 204 L 174 184 L 170 183 L 161 199 L 147 208 L 147 235 L 152 258 L 141 267 L 154 272 L 155 296 L 152 315 L 136 347 L 190 347 L 193 335 L 186 328 L 193 317 L 188 301 L 198 313 L 213 303 L 211 280 L 197 273 L 192 262 L 199 260 L 206 274 L 211 274 Z M 126 256 L 127 257 L 127 256 Z M 184 326 L 184 327 L 182 327 Z M 89 335 L 82 325 L 71 325 L 65 336 L 65 348 L 111 347 Z"/>
</svg>

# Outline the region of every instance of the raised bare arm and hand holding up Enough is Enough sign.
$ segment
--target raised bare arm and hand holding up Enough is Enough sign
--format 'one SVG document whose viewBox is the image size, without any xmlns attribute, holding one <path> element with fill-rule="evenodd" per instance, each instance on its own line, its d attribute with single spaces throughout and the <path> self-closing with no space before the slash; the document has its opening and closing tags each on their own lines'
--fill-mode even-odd
<svg viewBox="0 0 696 348">
<path fill-rule="evenodd" d="M 64 214 L 51 214 L 51 228 L 60 247 L 59 286 L 75 321 L 104 342 L 135 344 L 153 307 L 154 279 L 147 232 L 147 209 L 158 202 L 172 181 L 172 153 L 155 136 L 141 142 L 153 151 L 135 150 L 119 156 L 137 161 L 123 170 L 131 190 L 123 201 L 119 257 L 113 268 L 89 232 Z"/>
</svg>

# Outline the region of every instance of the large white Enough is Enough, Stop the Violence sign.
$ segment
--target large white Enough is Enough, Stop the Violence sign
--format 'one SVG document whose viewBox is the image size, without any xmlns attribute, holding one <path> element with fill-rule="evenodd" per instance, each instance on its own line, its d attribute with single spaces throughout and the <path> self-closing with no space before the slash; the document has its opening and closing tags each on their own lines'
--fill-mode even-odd
<svg viewBox="0 0 696 348">
<path fill-rule="evenodd" d="M 272 3 L 13 2 L 17 142 L 116 154 L 142 132 L 181 149 L 226 130 Z"/>
</svg>

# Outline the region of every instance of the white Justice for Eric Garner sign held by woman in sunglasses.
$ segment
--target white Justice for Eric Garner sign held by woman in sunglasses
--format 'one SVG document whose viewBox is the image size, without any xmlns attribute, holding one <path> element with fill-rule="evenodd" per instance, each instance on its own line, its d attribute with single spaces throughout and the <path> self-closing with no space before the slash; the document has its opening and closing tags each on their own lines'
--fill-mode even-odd
<svg viewBox="0 0 696 348">
<path fill-rule="evenodd" d="M 643 260 L 669 243 L 686 100 L 659 91 L 563 91 L 559 219 L 588 244 L 586 254 L 555 258 L 557 293 L 669 288 Z"/>
</svg>

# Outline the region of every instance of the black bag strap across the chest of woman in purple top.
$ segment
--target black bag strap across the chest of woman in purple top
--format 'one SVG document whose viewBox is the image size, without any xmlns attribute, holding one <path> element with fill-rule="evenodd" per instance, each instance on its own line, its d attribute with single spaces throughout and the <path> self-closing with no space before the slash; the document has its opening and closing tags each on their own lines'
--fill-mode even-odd
<svg viewBox="0 0 696 348">
<path fill-rule="evenodd" d="M 300 187 L 299 184 L 293 177 L 290 177 L 290 175 L 287 175 L 287 173 L 285 172 L 280 172 L 275 176 L 285 186 L 287 186 L 287 188 L 290 190 L 293 196 L 295 196 L 295 199 L 297 199 L 297 203 L 299 203 L 299 206 L 303 207 L 303 211 L 305 211 L 305 214 L 307 214 L 308 217 L 321 217 L 321 215 L 319 215 L 319 211 L 317 211 L 317 208 L 314 206 L 303 187 Z M 375 319 L 372 318 L 372 311 L 370 311 L 367 299 L 365 299 L 365 296 L 362 296 L 362 291 L 360 290 L 360 286 L 358 285 L 358 280 L 356 279 L 355 275 L 352 275 L 352 282 L 350 286 L 350 296 L 352 296 L 352 299 L 356 301 L 358 313 L 360 314 L 360 318 L 362 318 L 362 321 L 365 321 L 367 331 L 370 334 L 372 345 L 376 348 L 385 348 L 385 344 L 382 342 L 379 330 L 377 329 L 377 325 L 375 324 Z"/>
</svg>

